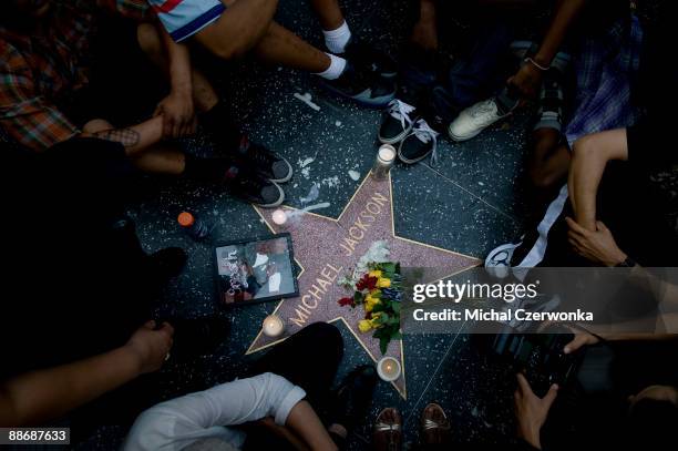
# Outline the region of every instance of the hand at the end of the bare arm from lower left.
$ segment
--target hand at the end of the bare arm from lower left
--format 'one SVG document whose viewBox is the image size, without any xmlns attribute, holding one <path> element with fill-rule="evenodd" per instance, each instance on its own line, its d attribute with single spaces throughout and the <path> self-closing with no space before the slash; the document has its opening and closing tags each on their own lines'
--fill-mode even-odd
<svg viewBox="0 0 678 451">
<path fill-rule="evenodd" d="M 136 329 L 125 347 L 138 359 L 140 373 L 145 375 L 161 369 L 174 344 L 172 326 L 163 322 L 161 328 L 156 329 L 154 320 Z"/>
</svg>

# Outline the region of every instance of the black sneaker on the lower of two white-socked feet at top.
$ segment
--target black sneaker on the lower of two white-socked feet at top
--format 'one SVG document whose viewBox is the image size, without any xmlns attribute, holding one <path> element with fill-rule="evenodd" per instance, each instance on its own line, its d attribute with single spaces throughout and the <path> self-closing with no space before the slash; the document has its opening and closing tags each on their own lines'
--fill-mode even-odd
<svg viewBox="0 0 678 451">
<path fill-rule="evenodd" d="M 329 91 L 359 104 L 372 109 L 382 109 L 396 98 L 396 84 L 388 82 L 373 73 L 358 71 L 350 62 L 337 80 L 325 80 L 322 84 Z"/>
</svg>

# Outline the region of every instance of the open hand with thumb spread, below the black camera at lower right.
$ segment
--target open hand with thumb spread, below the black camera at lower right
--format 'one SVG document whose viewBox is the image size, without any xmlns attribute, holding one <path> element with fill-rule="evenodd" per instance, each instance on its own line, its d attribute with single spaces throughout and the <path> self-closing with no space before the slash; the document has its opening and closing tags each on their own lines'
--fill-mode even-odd
<svg viewBox="0 0 678 451">
<path fill-rule="evenodd" d="M 532 391 L 527 379 L 517 375 L 518 388 L 513 394 L 515 417 L 517 420 L 517 434 L 523 440 L 537 449 L 542 449 L 540 430 L 546 422 L 548 410 L 558 394 L 558 386 L 551 386 L 544 398 L 540 398 Z"/>
</svg>

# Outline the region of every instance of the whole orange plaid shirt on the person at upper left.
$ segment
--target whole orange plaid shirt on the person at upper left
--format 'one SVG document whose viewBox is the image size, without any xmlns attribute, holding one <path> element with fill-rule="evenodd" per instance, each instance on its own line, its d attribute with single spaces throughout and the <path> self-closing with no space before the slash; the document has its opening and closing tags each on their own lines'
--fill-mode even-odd
<svg viewBox="0 0 678 451">
<path fill-rule="evenodd" d="M 99 3 L 99 4 L 97 4 Z M 13 140 L 42 151 L 80 133 L 55 106 L 88 82 L 86 55 L 96 7 L 137 20 L 144 0 L 52 2 L 48 32 L 21 35 L 0 27 L 0 127 Z"/>
</svg>

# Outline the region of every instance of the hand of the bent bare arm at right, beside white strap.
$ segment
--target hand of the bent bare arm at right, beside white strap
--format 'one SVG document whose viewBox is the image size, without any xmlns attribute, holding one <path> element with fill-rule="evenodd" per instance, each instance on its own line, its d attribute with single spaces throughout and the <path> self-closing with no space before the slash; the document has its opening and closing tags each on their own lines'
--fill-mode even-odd
<svg viewBox="0 0 678 451">
<path fill-rule="evenodd" d="M 605 266 L 617 266 L 626 260 L 627 255 L 619 249 L 612 232 L 602 222 L 597 221 L 597 229 L 592 232 L 569 217 L 565 221 L 569 227 L 567 232 L 569 244 L 582 257 Z"/>
</svg>

